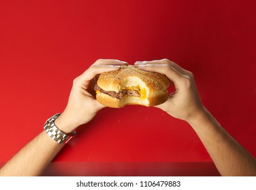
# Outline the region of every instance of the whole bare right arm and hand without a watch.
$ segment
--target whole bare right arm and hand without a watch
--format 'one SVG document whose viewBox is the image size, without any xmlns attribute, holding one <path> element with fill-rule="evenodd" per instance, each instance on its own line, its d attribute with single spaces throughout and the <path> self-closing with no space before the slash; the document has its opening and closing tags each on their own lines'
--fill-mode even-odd
<svg viewBox="0 0 256 190">
<path fill-rule="evenodd" d="M 203 106 L 191 72 L 167 59 L 135 62 L 135 66 L 166 75 L 174 83 L 175 92 L 156 107 L 191 125 L 222 176 L 256 176 L 255 158 Z"/>
</svg>

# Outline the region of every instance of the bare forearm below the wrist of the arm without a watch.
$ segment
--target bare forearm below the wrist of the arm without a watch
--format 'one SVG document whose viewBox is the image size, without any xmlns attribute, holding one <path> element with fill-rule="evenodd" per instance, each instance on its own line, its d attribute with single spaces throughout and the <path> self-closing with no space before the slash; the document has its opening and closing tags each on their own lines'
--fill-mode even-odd
<svg viewBox="0 0 256 190">
<path fill-rule="evenodd" d="M 256 176 L 255 159 L 206 109 L 189 123 L 222 176 Z"/>
</svg>

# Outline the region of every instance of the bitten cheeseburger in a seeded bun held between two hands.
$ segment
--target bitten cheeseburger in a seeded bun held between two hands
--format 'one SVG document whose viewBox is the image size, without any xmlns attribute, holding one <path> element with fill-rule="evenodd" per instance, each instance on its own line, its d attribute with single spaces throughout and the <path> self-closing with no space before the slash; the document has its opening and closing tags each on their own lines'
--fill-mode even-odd
<svg viewBox="0 0 256 190">
<path fill-rule="evenodd" d="M 128 65 L 101 73 L 94 90 L 97 101 L 106 107 L 121 108 L 127 104 L 151 107 L 167 100 L 169 85 L 165 75 Z"/>
</svg>

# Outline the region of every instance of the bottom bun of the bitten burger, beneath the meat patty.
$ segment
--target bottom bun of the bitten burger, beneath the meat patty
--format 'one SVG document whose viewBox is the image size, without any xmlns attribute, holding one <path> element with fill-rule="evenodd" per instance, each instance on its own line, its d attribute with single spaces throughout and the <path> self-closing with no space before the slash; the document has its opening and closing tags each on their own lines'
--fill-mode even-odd
<svg viewBox="0 0 256 190">
<path fill-rule="evenodd" d="M 139 104 L 146 107 L 152 107 L 165 102 L 168 99 L 168 96 L 168 91 L 165 90 L 163 92 L 147 96 L 143 99 L 135 96 L 125 96 L 121 99 L 117 99 L 101 92 L 97 92 L 96 98 L 98 102 L 105 105 L 106 107 L 121 108 L 125 107 L 127 104 Z"/>
</svg>

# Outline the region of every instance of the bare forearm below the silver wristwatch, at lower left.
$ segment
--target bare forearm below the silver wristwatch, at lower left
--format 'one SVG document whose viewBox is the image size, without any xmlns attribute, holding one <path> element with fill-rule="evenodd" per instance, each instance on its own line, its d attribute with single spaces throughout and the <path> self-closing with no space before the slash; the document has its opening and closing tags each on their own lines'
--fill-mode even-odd
<svg viewBox="0 0 256 190">
<path fill-rule="evenodd" d="M 41 132 L 0 170 L 0 176 L 39 176 L 63 145 Z"/>
</svg>

